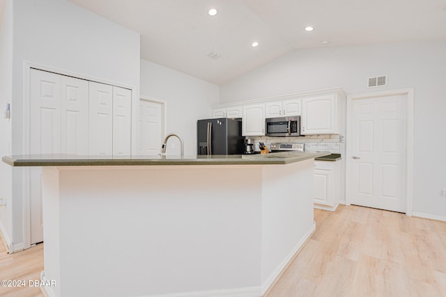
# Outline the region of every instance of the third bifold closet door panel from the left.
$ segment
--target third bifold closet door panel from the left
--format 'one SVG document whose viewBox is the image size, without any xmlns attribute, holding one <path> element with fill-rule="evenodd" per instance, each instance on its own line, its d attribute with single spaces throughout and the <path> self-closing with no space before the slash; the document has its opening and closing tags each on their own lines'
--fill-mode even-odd
<svg viewBox="0 0 446 297">
<path fill-rule="evenodd" d="M 111 156 L 113 151 L 113 87 L 89 82 L 89 154 Z"/>
</svg>

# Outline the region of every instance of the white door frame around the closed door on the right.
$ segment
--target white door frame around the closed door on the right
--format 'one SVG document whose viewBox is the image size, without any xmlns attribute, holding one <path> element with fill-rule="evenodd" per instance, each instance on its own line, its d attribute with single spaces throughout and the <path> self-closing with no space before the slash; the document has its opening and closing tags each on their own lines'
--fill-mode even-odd
<svg viewBox="0 0 446 297">
<path fill-rule="evenodd" d="M 400 90 L 385 90 L 382 92 L 363 93 L 358 95 L 347 96 L 347 129 L 346 129 L 346 205 L 351 205 L 351 175 L 353 170 L 352 163 L 352 146 L 350 137 L 353 135 L 352 129 L 352 105 L 353 100 L 370 99 L 376 97 L 388 97 L 394 95 L 406 95 L 407 109 L 406 109 L 406 215 L 413 214 L 413 123 L 414 123 L 414 104 L 415 104 L 415 90 L 414 88 L 400 89 Z"/>
</svg>

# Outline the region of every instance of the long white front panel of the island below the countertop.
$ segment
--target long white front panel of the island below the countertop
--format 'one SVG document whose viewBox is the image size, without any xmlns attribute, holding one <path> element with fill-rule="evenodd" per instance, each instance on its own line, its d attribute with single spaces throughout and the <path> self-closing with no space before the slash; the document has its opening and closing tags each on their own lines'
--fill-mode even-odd
<svg viewBox="0 0 446 297">
<path fill-rule="evenodd" d="M 260 288 L 261 166 L 59 170 L 62 296 Z"/>
</svg>

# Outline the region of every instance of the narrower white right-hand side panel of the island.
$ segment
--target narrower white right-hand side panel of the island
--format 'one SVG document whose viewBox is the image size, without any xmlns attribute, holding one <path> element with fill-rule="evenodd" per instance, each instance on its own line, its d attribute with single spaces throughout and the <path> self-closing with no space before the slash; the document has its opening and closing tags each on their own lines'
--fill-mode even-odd
<svg viewBox="0 0 446 297">
<path fill-rule="evenodd" d="M 263 168 L 263 293 L 315 229 L 314 159 Z"/>
</svg>

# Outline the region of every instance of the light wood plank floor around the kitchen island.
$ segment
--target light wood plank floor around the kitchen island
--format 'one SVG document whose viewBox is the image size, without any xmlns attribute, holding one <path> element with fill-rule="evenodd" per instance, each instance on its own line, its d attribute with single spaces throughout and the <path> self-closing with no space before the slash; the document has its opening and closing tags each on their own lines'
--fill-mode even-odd
<svg viewBox="0 0 446 297">
<path fill-rule="evenodd" d="M 316 232 L 268 297 L 446 296 L 446 223 L 340 205 L 314 210 Z M 40 280 L 43 244 L 6 254 L 0 280 Z M 0 296 L 43 296 L 36 287 L 0 287 Z"/>
</svg>

